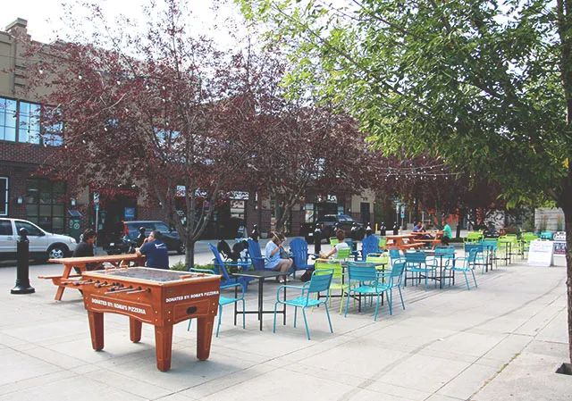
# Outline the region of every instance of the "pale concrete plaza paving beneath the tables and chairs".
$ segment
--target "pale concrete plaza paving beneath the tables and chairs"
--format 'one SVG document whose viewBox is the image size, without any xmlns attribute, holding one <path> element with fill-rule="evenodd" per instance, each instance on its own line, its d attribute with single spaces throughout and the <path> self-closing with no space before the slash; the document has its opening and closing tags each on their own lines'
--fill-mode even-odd
<svg viewBox="0 0 572 401">
<path fill-rule="evenodd" d="M 172 256 L 175 257 L 175 256 Z M 348 317 L 332 301 L 334 333 L 323 308 L 272 332 L 272 315 L 246 330 L 223 310 L 219 338 L 206 362 L 196 358 L 195 328 L 174 328 L 172 370 L 156 369 L 154 330 L 143 325 L 141 342 L 129 339 L 126 317 L 105 314 L 105 348 L 91 348 L 80 293 L 55 287 L 38 274 L 58 265 L 30 266 L 36 294 L 12 296 L 16 272 L 0 268 L 0 401 L 3 400 L 570 400 L 572 377 L 555 373 L 568 361 L 565 260 L 530 267 L 522 261 L 481 274 L 467 291 L 462 276 L 452 288 L 403 291 L 406 310 L 380 307 Z M 297 284 L 294 282 L 293 284 Z M 273 307 L 278 284 L 265 285 Z M 397 294 L 395 294 L 397 297 Z M 247 308 L 256 305 L 248 289 Z"/>
</svg>

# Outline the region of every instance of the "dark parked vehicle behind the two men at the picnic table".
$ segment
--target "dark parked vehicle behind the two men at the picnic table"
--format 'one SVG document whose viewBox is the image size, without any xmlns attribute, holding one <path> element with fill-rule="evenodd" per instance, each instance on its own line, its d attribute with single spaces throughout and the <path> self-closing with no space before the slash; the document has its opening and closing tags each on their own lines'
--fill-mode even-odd
<svg viewBox="0 0 572 401">
<path fill-rule="evenodd" d="M 181 242 L 177 230 L 172 229 L 163 221 L 134 220 L 122 221 L 122 224 L 122 238 L 116 238 L 113 242 L 104 246 L 104 250 L 108 255 L 125 254 L 129 252 L 130 248 L 134 248 L 135 239 L 139 236 L 141 227 L 145 228 L 146 236 L 153 230 L 161 231 L 161 234 L 163 234 L 161 239 L 163 239 L 167 249 L 176 251 L 179 255 L 185 253 L 185 244 Z"/>
</svg>

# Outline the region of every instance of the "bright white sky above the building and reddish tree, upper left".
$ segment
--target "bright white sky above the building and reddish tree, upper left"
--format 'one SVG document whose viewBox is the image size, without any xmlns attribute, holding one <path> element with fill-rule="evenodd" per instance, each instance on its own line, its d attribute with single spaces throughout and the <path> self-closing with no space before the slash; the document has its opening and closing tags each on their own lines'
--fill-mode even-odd
<svg viewBox="0 0 572 401">
<path fill-rule="evenodd" d="M 39 42 L 50 43 L 58 38 L 56 32 L 62 32 L 64 23 L 64 8 L 62 3 L 64 0 L 24 0 L 24 1 L 7 1 L 2 5 L 2 18 L 0 19 L 0 30 L 4 30 L 6 26 L 17 18 L 28 21 L 28 33 L 32 39 Z M 141 7 L 148 4 L 149 0 L 93 0 L 89 3 L 99 4 L 106 15 L 110 18 L 121 13 L 134 18 L 139 18 Z M 211 9 L 215 0 L 189 0 L 188 6 L 193 11 L 199 23 L 204 25 L 204 30 L 211 30 L 213 37 L 219 37 L 221 41 L 231 40 L 225 37 L 223 33 L 226 29 L 223 27 L 229 17 L 238 15 L 238 9 L 231 0 L 228 2 L 216 2 L 220 4 L 220 12 L 218 15 Z M 69 2 L 78 4 L 79 2 Z M 213 29 L 214 24 L 219 29 Z M 239 23 L 239 25 L 241 25 Z"/>
</svg>

